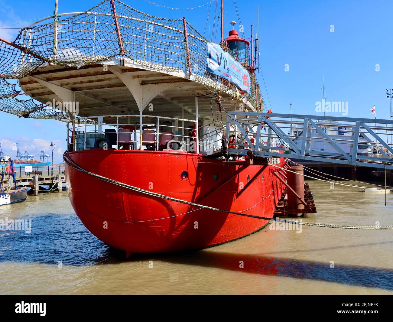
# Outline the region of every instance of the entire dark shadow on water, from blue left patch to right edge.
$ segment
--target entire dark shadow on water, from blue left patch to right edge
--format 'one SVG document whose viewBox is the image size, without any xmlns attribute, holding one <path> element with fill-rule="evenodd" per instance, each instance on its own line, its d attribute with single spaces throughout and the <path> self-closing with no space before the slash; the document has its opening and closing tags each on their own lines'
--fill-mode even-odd
<svg viewBox="0 0 393 322">
<path fill-rule="evenodd" d="M 29 216 L 24 217 L 29 219 Z M 57 265 L 88 266 L 110 265 L 141 260 L 160 260 L 167 263 L 215 267 L 248 274 L 283 276 L 319 280 L 364 287 L 378 287 L 393 291 L 393 270 L 375 267 L 336 265 L 318 261 L 301 261 L 266 254 L 239 254 L 215 250 L 196 250 L 172 254 L 135 254 L 125 260 L 125 252 L 105 245 L 83 226 L 75 214 L 46 213 L 32 218 L 31 234 L 22 231 L 0 231 L 0 263 L 44 263 Z M 66 219 L 66 220 L 64 220 Z M 393 243 L 368 243 L 339 247 L 348 248 Z M 302 252 L 318 249 L 302 250 Z M 292 253 L 287 251 L 285 253 Z M 296 253 L 296 251 L 294 251 Z M 239 262 L 244 262 L 244 268 Z"/>
</svg>

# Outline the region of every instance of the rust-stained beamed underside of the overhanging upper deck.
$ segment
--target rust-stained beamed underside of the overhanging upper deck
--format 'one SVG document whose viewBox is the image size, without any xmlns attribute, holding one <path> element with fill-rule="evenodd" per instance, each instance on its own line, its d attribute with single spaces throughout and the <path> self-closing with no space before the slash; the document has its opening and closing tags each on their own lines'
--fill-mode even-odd
<svg viewBox="0 0 393 322">
<path fill-rule="evenodd" d="M 118 66 L 122 73 L 132 75 L 143 86 L 160 86 L 163 83 L 176 83 L 176 87 L 170 88 L 152 99 L 154 112 L 146 113 L 162 116 L 181 117 L 183 112 L 195 115 L 195 92 L 208 94 L 206 88 L 195 81 L 185 79 L 181 75 L 165 74 L 162 71 L 142 70 L 130 66 Z M 104 64 L 93 64 L 77 68 L 62 66 L 42 66 L 34 75 L 39 75 L 45 81 L 53 81 L 55 84 L 68 88 L 75 92 L 75 100 L 79 103 L 79 116 L 118 114 L 119 108 L 125 109 L 127 114 L 138 113 L 138 107 L 124 83 L 111 72 L 105 71 Z M 32 74 L 32 75 L 33 75 Z M 31 79 L 29 76 L 19 80 L 22 90 L 40 103 L 47 104 L 57 96 L 46 86 Z M 232 100 L 226 93 L 221 93 L 222 106 L 227 110 L 235 110 L 239 102 Z M 99 101 L 97 101 L 99 99 Z M 105 101 L 105 104 L 99 102 Z M 200 117 L 211 116 L 211 99 L 201 97 L 198 104 Z"/>
</svg>

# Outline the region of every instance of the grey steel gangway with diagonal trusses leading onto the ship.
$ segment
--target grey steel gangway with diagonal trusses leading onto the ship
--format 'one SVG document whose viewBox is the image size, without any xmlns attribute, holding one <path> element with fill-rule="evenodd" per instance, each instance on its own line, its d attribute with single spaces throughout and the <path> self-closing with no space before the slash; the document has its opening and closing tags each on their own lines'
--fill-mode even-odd
<svg viewBox="0 0 393 322">
<path fill-rule="evenodd" d="M 392 137 L 393 120 L 233 111 L 222 126 L 226 144 L 207 139 L 202 151 L 393 169 Z"/>
</svg>

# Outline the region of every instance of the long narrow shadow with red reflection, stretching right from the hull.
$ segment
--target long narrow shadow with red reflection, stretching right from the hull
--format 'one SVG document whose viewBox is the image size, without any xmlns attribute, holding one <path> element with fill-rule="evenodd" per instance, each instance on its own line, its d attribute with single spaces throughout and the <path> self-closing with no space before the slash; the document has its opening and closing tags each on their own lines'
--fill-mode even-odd
<svg viewBox="0 0 393 322">
<path fill-rule="evenodd" d="M 160 256 L 169 263 L 216 267 L 250 274 L 283 276 L 319 280 L 347 285 L 378 287 L 393 291 L 393 270 L 356 265 L 336 265 L 318 261 L 300 261 L 292 258 L 277 258 L 258 254 L 237 254 L 200 250 L 193 254 Z M 243 261 L 244 268 L 239 268 Z"/>
</svg>

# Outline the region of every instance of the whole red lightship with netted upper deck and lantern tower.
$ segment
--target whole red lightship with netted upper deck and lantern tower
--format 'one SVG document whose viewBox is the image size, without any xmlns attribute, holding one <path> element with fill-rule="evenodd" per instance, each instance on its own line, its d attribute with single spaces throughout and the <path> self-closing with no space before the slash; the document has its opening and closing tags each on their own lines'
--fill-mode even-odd
<svg viewBox="0 0 393 322">
<path fill-rule="evenodd" d="M 241 115 L 264 109 L 257 40 L 231 22 L 227 39 L 209 42 L 185 18 L 115 0 L 67 15 L 21 31 L 16 48 L 31 69 L 19 84 L 41 103 L 62 102 L 67 190 L 86 228 L 131 254 L 209 247 L 266 225 L 285 195 L 286 162 L 253 156 L 266 144 L 260 116 Z M 65 108 L 75 101 L 76 112 Z"/>
</svg>

